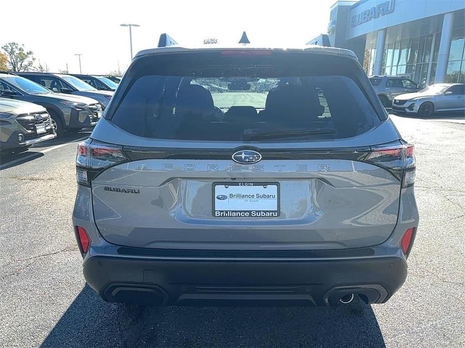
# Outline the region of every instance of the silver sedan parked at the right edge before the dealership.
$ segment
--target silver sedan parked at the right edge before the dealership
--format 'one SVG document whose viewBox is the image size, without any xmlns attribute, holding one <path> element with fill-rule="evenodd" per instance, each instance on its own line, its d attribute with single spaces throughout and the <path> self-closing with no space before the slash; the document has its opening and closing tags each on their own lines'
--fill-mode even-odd
<svg viewBox="0 0 465 348">
<path fill-rule="evenodd" d="M 402 94 L 394 98 L 392 111 L 429 117 L 434 112 L 465 111 L 465 84 L 437 83 L 417 93 Z"/>
</svg>

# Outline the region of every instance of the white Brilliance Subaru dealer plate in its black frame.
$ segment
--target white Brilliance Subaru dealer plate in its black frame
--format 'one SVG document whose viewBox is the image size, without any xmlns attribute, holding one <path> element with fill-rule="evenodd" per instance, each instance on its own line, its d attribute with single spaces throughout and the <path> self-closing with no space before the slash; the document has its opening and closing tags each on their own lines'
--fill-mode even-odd
<svg viewBox="0 0 465 348">
<path fill-rule="evenodd" d="M 213 216 L 275 218 L 279 183 L 213 183 Z"/>
</svg>

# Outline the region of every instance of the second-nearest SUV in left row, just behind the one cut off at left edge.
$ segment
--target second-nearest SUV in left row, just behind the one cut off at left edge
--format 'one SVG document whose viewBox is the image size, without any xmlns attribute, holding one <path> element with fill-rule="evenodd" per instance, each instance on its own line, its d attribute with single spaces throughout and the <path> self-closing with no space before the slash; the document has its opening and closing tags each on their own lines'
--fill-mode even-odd
<svg viewBox="0 0 465 348">
<path fill-rule="evenodd" d="M 0 74 L 0 97 L 29 101 L 45 107 L 58 136 L 62 136 L 66 130 L 93 127 L 102 116 L 102 107 L 94 99 L 55 93 L 16 74 Z"/>
</svg>

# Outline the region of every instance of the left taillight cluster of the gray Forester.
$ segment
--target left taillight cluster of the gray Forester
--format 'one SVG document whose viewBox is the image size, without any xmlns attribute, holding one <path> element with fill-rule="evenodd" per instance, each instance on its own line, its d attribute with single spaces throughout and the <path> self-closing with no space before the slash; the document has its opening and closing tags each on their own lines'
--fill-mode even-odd
<svg viewBox="0 0 465 348">
<path fill-rule="evenodd" d="M 76 180 L 78 184 L 89 186 L 103 170 L 127 160 L 121 146 L 87 139 L 78 144 Z"/>
</svg>

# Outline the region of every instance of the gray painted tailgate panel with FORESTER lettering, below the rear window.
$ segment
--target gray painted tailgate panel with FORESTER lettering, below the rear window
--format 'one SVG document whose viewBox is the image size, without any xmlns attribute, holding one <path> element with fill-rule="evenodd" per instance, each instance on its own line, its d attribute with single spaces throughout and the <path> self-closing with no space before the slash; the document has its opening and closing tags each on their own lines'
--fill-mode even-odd
<svg viewBox="0 0 465 348">
<path fill-rule="evenodd" d="M 229 183 L 230 189 L 252 183 L 255 195 L 266 192 L 262 184 L 277 184 L 278 216 L 215 216 L 215 201 L 223 202 L 215 183 L 222 188 Z M 251 192 L 242 189 L 247 191 L 232 192 Z M 248 165 L 225 159 L 142 159 L 104 171 L 92 182 L 92 193 L 97 227 L 115 244 L 339 249 L 389 237 L 397 221 L 400 182 L 381 167 L 350 159 L 263 159 Z"/>
</svg>

